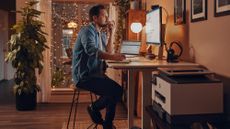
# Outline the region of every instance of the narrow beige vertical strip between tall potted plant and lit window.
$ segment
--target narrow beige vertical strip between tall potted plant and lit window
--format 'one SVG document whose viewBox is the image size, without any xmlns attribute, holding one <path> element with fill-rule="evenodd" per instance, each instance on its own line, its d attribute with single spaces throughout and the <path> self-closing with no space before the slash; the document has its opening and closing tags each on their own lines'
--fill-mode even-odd
<svg viewBox="0 0 230 129">
<path fill-rule="evenodd" d="M 44 32 L 47 33 L 46 36 L 46 45 L 51 48 L 51 35 L 52 35 L 52 18 L 51 18 L 51 0 L 38 0 L 39 4 L 37 5 L 38 10 L 44 12 L 40 16 L 40 20 L 45 23 L 45 27 L 42 28 Z M 38 95 L 38 102 L 49 102 L 51 96 L 51 67 L 50 67 L 50 49 L 46 49 L 43 52 L 44 56 L 44 67 L 42 73 L 38 77 L 38 85 L 41 87 L 41 92 Z"/>
</svg>

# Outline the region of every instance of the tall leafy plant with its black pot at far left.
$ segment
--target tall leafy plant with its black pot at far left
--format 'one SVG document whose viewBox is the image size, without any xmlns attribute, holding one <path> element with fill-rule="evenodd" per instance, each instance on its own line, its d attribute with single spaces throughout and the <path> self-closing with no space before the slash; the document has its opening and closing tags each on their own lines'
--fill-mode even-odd
<svg viewBox="0 0 230 129">
<path fill-rule="evenodd" d="M 28 1 L 20 13 L 22 20 L 13 26 L 14 34 L 8 42 L 9 51 L 5 58 L 11 61 L 16 72 L 14 75 L 16 108 L 18 110 L 33 110 L 37 104 L 36 71 L 43 69 L 42 52 L 48 48 L 45 45 L 46 33 L 42 31 L 44 23 L 38 19 L 42 12 L 33 8 L 37 1 Z"/>
</svg>

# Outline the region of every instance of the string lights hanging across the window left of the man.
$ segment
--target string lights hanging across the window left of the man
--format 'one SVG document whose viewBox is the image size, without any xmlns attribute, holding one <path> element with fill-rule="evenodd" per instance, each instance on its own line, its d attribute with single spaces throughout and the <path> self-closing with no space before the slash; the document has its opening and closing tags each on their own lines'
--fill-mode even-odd
<svg viewBox="0 0 230 129">
<path fill-rule="evenodd" d="M 72 47 L 77 32 L 82 26 L 89 23 L 88 12 L 95 4 L 74 3 L 74 2 L 53 2 L 52 3 L 52 43 L 51 43 L 51 71 L 56 74 L 57 68 L 63 68 L 62 58 L 65 55 L 65 49 Z M 66 37 L 63 30 L 72 29 L 72 34 Z M 68 74 L 64 68 L 64 75 Z M 64 76 L 62 86 L 65 85 L 67 77 Z M 55 81 L 55 80 L 54 80 Z"/>
</svg>

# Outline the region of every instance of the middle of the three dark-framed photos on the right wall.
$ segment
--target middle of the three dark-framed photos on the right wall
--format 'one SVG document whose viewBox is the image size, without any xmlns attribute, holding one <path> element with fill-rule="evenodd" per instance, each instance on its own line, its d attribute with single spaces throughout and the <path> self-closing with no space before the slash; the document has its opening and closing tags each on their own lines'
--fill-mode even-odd
<svg viewBox="0 0 230 129">
<path fill-rule="evenodd" d="M 207 0 L 191 0 L 191 22 L 207 20 Z"/>
</svg>

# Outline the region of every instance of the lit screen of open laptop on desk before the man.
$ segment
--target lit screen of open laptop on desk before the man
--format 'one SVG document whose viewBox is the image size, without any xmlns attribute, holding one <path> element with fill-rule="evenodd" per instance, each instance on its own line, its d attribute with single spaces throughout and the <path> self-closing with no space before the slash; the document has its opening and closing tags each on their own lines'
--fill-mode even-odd
<svg viewBox="0 0 230 129">
<path fill-rule="evenodd" d="M 140 41 L 122 41 L 121 53 L 126 55 L 138 55 L 140 46 Z"/>
</svg>

